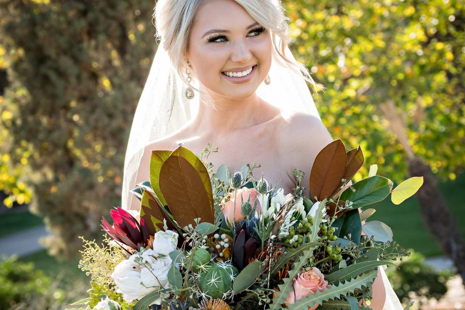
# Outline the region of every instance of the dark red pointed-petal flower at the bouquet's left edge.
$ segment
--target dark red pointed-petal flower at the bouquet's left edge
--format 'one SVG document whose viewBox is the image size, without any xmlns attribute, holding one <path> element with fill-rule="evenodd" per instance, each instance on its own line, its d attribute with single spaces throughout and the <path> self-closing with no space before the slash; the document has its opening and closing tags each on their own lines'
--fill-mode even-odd
<svg viewBox="0 0 465 310">
<path fill-rule="evenodd" d="M 110 210 L 110 216 L 114 222 L 113 226 L 109 224 L 105 217 L 102 217 L 102 230 L 105 233 L 135 250 L 147 247 L 149 230 L 142 218 L 140 218 L 139 223 L 135 217 L 120 207 L 116 208 L 116 210 Z"/>
</svg>

